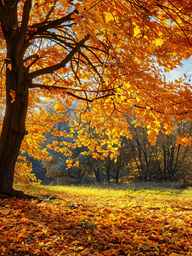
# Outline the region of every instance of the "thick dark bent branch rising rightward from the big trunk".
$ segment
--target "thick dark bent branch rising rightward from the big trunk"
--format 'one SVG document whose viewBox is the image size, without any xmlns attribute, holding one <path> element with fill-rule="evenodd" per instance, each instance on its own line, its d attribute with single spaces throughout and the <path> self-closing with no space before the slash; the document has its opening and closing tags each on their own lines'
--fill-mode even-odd
<svg viewBox="0 0 192 256">
<path fill-rule="evenodd" d="M 42 68 L 40 70 L 37 70 L 35 72 L 29 73 L 28 78 L 29 79 L 35 79 L 38 76 L 41 76 L 42 74 L 46 74 L 46 73 L 54 73 L 54 71 L 57 71 L 58 69 L 65 67 L 65 65 L 71 61 L 71 58 L 76 54 L 76 52 L 78 52 L 78 50 L 82 47 L 82 45 L 88 40 L 89 36 L 87 36 L 86 38 L 82 39 L 79 43 L 76 44 L 76 47 L 74 47 L 71 52 L 69 53 L 69 55 L 67 55 L 65 57 L 65 59 L 63 61 L 61 61 L 58 64 L 55 64 L 54 66 L 51 67 L 45 67 Z"/>
</svg>

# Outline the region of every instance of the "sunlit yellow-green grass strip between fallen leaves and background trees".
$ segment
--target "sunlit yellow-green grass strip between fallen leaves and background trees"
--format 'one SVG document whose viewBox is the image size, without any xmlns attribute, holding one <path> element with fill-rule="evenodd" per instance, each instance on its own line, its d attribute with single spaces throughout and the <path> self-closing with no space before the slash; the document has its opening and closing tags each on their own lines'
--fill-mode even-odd
<svg viewBox="0 0 192 256">
<path fill-rule="evenodd" d="M 71 186 L 45 186 L 45 185 L 31 185 L 27 186 L 25 184 L 14 184 L 14 189 L 25 190 L 25 193 L 43 195 L 48 192 L 59 193 L 71 191 L 74 193 L 83 193 L 86 195 L 126 195 L 133 194 L 138 195 L 140 193 L 147 193 L 152 195 L 170 195 L 170 196 L 179 196 L 179 195 L 189 195 L 192 196 L 192 189 L 183 189 L 179 183 L 127 183 L 127 184 L 95 184 L 95 185 L 71 185 Z"/>
</svg>

